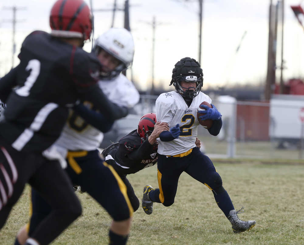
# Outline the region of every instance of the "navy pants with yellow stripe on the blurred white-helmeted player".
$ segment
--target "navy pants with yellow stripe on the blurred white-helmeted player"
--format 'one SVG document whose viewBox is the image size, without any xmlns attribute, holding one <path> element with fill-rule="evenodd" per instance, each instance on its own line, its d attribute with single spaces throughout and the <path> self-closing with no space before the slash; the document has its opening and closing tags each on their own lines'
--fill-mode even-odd
<svg viewBox="0 0 304 245">
<path fill-rule="evenodd" d="M 66 172 L 72 183 L 83 187 L 115 221 L 122 221 L 133 215 L 126 185 L 113 167 L 100 157 L 98 150 L 69 151 L 67 162 Z M 34 189 L 32 205 L 29 235 L 51 211 L 47 202 Z"/>
</svg>

